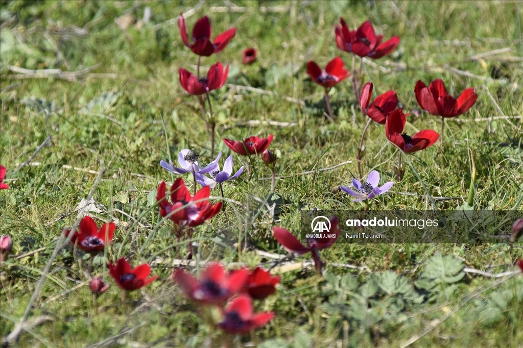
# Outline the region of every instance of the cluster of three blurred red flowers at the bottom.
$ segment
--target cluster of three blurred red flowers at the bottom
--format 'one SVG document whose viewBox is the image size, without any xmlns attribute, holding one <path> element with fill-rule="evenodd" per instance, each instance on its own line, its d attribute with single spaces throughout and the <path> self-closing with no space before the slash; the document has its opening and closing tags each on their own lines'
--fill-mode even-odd
<svg viewBox="0 0 523 348">
<path fill-rule="evenodd" d="M 252 299 L 263 300 L 276 290 L 279 276 L 271 276 L 259 267 L 253 271 L 240 269 L 225 272 L 219 263 L 212 263 L 200 274 L 200 279 L 177 269 L 173 281 L 181 291 L 201 305 L 216 305 L 222 309 L 222 321 L 216 323 L 228 333 L 244 334 L 263 327 L 272 318 L 273 312 L 253 313 Z M 237 295 L 233 298 L 233 296 Z M 223 309 L 225 301 L 233 298 Z"/>
</svg>

